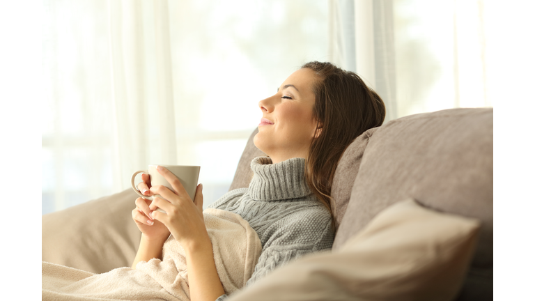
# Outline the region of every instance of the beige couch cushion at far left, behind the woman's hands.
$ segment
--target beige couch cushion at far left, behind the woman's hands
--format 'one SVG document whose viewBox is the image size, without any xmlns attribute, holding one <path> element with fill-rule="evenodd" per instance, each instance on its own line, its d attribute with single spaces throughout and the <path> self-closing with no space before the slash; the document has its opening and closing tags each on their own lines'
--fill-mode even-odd
<svg viewBox="0 0 535 301">
<path fill-rule="evenodd" d="M 93 273 L 130 267 L 141 239 L 132 219 L 137 197 L 129 188 L 42 215 L 42 261 Z"/>
</svg>

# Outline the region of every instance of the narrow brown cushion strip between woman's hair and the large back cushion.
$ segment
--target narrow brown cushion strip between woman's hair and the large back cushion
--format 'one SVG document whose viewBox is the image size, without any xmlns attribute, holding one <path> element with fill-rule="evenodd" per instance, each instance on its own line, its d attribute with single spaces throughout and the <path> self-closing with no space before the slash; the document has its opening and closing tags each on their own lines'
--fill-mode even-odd
<svg viewBox="0 0 535 301">
<path fill-rule="evenodd" d="M 355 183 L 355 177 L 359 172 L 360 162 L 364 150 L 368 145 L 368 141 L 378 128 L 371 128 L 362 133 L 359 137 L 355 138 L 351 144 L 343 152 L 338 167 L 334 172 L 334 178 L 332 180 L 331 187 L 331 208 L 332 215 L 334 217 L 335 229 L 338 229 L 342 221 L 346 208 L 348 207 L 349 198 L 351 196 L 351 189 L 353 183 Z"/>
</svg>

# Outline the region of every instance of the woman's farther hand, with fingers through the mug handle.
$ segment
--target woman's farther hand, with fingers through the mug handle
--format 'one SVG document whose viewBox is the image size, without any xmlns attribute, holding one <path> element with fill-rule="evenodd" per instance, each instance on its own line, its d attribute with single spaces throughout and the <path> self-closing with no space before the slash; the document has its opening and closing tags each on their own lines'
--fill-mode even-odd
<svg viewBox="0 0 535 301">
<path fill-rule="evenodd" d="M 150 177 L 143 173 L 141 174 L 143 182 L 137 185 L 139 191 L 147 196 L 153 194 L 150 193 Z M 148 206 L 152 203 L 149 199 L 137 198 L 136 208 L 132 210 L 132 219 L 137 224 L 137 228 L 148 240 L 166 240 L 169 237 L 169 229 L 153 217 L 151 217 L 152 210 Z"/>
</svg>

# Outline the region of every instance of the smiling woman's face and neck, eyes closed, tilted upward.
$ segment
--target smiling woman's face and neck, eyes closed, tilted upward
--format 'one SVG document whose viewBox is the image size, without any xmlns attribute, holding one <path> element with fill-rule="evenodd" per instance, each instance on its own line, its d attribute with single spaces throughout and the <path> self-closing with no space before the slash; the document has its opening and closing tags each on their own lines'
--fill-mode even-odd
<svg viewBox="0 0 535 301">
<path fill-rule="evenodd" d="M 269 155 L 273 163 L 307 157 L 316 130 L 312 114 L 312 86 L 316 80 L 311 69 L 302 68 L 281 84 L 277 94 L 258 102 L 262 120 L 254 145 Z"/>
</svg>

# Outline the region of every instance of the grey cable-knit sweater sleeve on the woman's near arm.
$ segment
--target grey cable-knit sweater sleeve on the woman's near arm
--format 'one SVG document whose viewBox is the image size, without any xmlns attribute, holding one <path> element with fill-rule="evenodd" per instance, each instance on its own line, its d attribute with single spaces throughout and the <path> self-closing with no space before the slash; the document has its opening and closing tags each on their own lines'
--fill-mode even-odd
<svg viewBox="0 0 535 301">
<path fill-rule="evenodd" d="M 297 215 L 283 219 L 275 223 L 273 229 L 246 286 L 296 258 L 330 249 L 334 240 L 331 217 L 325 214 Z"/>
</svg>

